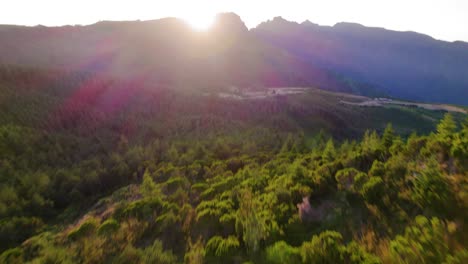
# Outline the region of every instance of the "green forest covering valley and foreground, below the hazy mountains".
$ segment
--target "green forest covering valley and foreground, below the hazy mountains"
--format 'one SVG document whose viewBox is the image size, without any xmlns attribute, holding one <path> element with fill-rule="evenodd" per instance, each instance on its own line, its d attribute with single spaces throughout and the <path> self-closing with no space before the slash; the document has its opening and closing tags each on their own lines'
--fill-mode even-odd
<svg viewBox="0 0 468 264">
<path fill-rule="evenodd" d="M 12 67 L 0 91 L 0 263 L 468 262 L 466 115 Z"/>
</svg>

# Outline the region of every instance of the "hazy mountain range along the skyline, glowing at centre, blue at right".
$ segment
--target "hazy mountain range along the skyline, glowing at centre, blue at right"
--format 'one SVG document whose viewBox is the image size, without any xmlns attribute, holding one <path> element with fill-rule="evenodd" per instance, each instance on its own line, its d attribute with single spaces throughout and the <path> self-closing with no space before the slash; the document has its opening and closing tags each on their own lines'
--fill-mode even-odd
<svg viewBox="0 0 468 264">
<path fill-rule="evenodd" d="M 0 26 L 0 64 L 84 72 L 172 88 L 319 87 L 468 105 L 468 48 L 413 32 L 281 18 L 210 31 L 176 18 L 89 26 Z"/>
</svg>

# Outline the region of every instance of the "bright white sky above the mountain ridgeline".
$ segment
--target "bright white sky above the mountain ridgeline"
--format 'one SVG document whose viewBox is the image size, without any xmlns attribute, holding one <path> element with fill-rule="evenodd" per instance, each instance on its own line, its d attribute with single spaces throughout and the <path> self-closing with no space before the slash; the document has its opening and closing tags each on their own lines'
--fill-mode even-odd
<svg viewBox="0 0 468 264">
<path fill-rule="evenodd" d="M 321 25 L 357 22 L 468 41 L 468 0 L 0 0 L 0 24 L 52 26 L 175 16 L 202 27 L 225 11 L 240 15 L 249 28 L 282 16 Z"/>
</svg>

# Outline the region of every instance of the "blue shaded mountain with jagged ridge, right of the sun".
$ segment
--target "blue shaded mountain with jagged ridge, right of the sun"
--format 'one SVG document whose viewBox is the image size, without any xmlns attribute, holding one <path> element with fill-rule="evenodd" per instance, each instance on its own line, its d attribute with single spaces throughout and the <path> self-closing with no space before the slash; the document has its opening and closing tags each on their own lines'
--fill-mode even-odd
<svg viewBox="0 0 468 264">
<path fill-rule="evenodd" d="M 252 30 L 316 66 L 375 83 L 392 96 L 468 105 L 468 46 L 354 23 L 319 26 L 280 17 Z"/>
</svg>

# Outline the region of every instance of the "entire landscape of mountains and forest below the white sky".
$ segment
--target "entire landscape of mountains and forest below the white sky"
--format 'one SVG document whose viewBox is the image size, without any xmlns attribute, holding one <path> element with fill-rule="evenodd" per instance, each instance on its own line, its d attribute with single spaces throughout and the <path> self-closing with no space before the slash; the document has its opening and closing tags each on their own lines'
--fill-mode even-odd
<svg viewBox="0 0 468 264">
<path fill-rule="evenodd" d="M 465 46 L 0 26 L 0 263 L 468 263 Z"/>
</svg>

